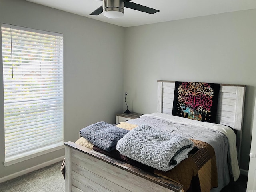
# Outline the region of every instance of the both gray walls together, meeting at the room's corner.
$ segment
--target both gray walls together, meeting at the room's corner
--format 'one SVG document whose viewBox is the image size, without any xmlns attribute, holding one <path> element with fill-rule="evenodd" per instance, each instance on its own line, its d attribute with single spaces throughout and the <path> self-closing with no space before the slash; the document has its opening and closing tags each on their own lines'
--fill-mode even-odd
<svg viewBox="0 0 256 192">
<path fill-rule="evenodd" d="M 156 80 L 244 84 L 240 168 L 245 172 L 256 93 L 255 18 L 252 9 L 122 28 L 22 0 L 0 1 L 1 23 L 64 34 L 64 141 L 75 141 L 85 125 L 114 123 L 125 108 L 124 92 L 129 110 L 155 112 Z M 4 162 L 2 98 L 0 106 Z M 1 163 L 0 178 L 63 155 L 59 150 L 13 166 Z"/>
</svg>

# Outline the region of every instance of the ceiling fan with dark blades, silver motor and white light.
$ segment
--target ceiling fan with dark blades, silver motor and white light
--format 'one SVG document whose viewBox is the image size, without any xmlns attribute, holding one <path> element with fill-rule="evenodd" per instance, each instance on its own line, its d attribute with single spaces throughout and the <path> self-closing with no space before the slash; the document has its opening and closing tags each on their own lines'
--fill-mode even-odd
<svg viewBox="0 0 256 192">
<path fill-rule="evenodd" d="M 108 18 L 119 18 L 124 15 L 124 7 L 142 11 L 149 14 L 159 12 L 159 10 L 146 7 L 140 4 L 130 2 L 131 0 L 101 0 L 102 6 L 92 12 L 90 15 L 99 15 L 103 12 L 104 16 Z"/>
</svg>

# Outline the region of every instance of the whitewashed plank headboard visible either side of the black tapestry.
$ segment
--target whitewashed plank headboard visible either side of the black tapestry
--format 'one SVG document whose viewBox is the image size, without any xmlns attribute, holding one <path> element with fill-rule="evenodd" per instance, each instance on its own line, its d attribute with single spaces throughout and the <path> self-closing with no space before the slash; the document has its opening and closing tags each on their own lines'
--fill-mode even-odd
<svg viewBox="0 0 256 192">
<path fill-rule="evenodd" d="M 175 81 L 157 81 L 157 112 L 172 114 Z M 238 163 L 242 142 L 245 85 L 220 84 L 216 123 L 237 130 Z"/>
</svg>

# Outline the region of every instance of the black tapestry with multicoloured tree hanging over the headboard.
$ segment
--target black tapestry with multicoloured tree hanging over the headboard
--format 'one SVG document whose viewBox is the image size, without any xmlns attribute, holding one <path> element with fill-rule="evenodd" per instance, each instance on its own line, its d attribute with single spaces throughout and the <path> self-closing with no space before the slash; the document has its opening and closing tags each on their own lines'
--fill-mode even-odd
<svg viewBox="0 0 256 192">
<path fill-rule="evenodd" d="M 175 82 L 172 115 L 216 122 L 220 84 Z"/>
</svg>

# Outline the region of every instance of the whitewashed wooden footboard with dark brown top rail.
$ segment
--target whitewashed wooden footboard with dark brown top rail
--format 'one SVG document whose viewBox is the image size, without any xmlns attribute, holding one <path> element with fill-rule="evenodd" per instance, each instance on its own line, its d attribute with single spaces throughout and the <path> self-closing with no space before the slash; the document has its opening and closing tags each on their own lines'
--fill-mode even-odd
<svg viewBox="0 0 256 192">
<path fill-rule="evenodd" d="M 181 192 L 182 185 L 66 142 L 66 192 Z"/>
</svg>

